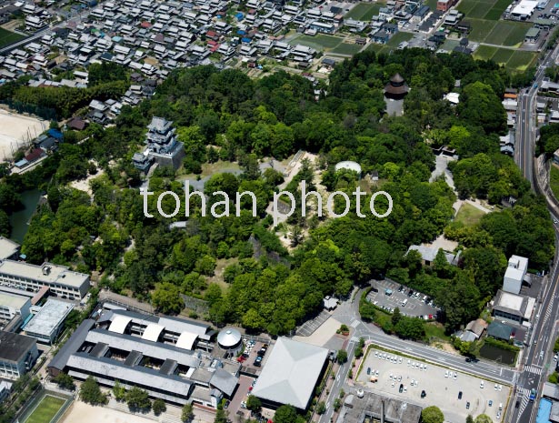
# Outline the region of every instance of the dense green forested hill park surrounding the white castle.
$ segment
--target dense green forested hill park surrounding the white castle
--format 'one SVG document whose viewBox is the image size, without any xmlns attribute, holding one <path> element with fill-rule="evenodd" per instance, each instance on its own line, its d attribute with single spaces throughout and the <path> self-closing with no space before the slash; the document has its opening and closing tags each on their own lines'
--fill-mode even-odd
<svg viewBox="0 0 559 423">
<path fill-rule="evenodd" d="M 386 116 L 383 89 L 396 73 L 412 89 L 404 100 L 404 116 Z M 71 116 L 93 95 L 89 90 L 111 96 L 124 86 L 125 73 L 106 74 L 109 80 L 97 81 L 81 96 L 64 94 L 60 113 Z M 443 96 L 456 80 L 461 96 L 454 107 Z M 123 106 L 115 126 L 66 131 L 65 142 L 43 166 L 4 176 L 0 233 L 9 235 L 8 217 L 20 206 L 21 192 L 39 187 L 48 200 L 25 237 L 27 259 L 98 272 L 101 286 L 152 301 L 165 313 L 184 307 L 178 295 L 184 293 L 207 300 L 209 312 L 203 317 L 215 324 L 284 334 L 320 310 L 324 296 L 346 297 L 354 285 L 389 276 L 434 297 L 451 331 L 479 315 L 500 286 L 511 254 L 528 257 L 534 268 L 546 267 L 554 257 L 544 200 L 530 192 L 514 161 L 499 152 L 499 136 L 506 130 L 501 98 L 510 84 L 511 76 L 493 62 L 420 49 L 391 55 L 365 51 L 336 65 L 328 84 L 318 86 L 283 71 L 250 79 L 214 66 L 175 70 L 153 98 Z M 43 105 L 51 96 L 63 96 L 45 89 L 8 86 L 0 96 Z M 321 93 L 318 100 L 315 89 Z M 185 229 L 169 229 L 173 219 L 145 217 L 141 175 L 131 158 L 143 145 L 152 116 L 174 122 L 186 156 L 178 171 L 156 169 L 149 180 L 155 192 L 150 201 L 167 190 L 181 195 L 185 176 L 201 174 L 203 166 L 236 162 L 242 172 L 215 173 L 205 184 L 206 193 L 252 191 L 258 216 L 246 210 L 240 217 L 203 217 L 197 203 Z M 514 196 L 514 207 L 470 226 L 453 222 L 456 194 L 444 179 L 429 183 L 431 147 L 443 145 L 460 156 L 450 166 L 458 196 L 490 204 Z M 288 184 L 295 197 L 300 196 L 297 183 L 305 180 L 307 186 L 354 198 L 359 178 L 334 171 L 336 163 L 354 160 L 364 174 L 379 175 L 379 184 L 368 187 L 362 204 L 382 189 L 393 197 L 393 212 L 386 218 L 357 218 L 352 204 L 347 217 L 328 219 L 315 216 L 311 207 L 306 217 L 296 213 L 284 224 L 290 234 L 285 247 L 265 213 L 284 176 L 274 169 L 261 173 L 258 160 L 283 160 L 299 150 L 318 155 L 319 161 L 305 163 Z M 93 196 L 68 185 L 97 174 Z M 155 209 L 153 202 L 150 208 Z M 181 212 L 175 220 L 184 220 Z M 410 245 L 443 233 L 464 249 L 459 266 L 438 257 L 433 266 L 423 267 L 418 254 L 406 255 Z M 253 257 L 252 239 L 274 254 Z M 226 263 L 223 280 L 212 282 L 220 263 Z"/>
</svg>

